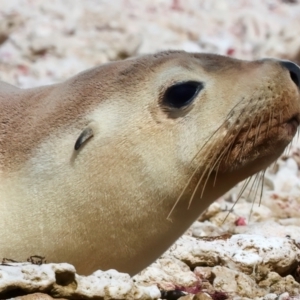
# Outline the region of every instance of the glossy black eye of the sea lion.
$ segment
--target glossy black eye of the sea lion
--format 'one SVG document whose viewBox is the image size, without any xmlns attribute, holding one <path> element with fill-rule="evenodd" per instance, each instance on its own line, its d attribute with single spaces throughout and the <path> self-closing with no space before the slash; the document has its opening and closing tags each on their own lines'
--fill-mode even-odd
<svg viewBox="0 0 300 300">
<path fill-rule="evenodd" d="M 166 90 L 163 96 L 163 103 L 174 108 L 187 106 L 195 99 L 203 87 L 203 83 L 197 81 L 176 83 Z"/>
</svg>

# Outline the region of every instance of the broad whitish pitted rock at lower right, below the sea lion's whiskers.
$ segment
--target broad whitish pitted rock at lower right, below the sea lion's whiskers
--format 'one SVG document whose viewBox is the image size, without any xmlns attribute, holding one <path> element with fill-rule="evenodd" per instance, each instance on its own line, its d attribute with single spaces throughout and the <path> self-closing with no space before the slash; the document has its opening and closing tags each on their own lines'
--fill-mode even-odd
<svg viewBox="0 0 300 300">
<path fill-rule="evenodd" d="M 193 268 L 222 265 L 253 274 L 256 280 L 271 271 L 291 272 L 300 260 L 300 250 L 290 239 L 246 234 L 208 239 L 183 236 L 167 254 Z"/>
</svg>

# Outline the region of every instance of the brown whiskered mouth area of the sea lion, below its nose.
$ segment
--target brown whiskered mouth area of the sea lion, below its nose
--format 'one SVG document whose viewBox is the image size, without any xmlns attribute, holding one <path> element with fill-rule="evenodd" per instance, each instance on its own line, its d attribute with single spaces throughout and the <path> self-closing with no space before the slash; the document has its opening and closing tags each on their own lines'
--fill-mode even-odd
<svg viewBox="0 0 300 300">
<path fill-rule="evenodd" d="M 295 136 L 300 125 L 300 113 L 289 114 L 281 122 L 279 119 L 279 115 L 271 118 L 258 115 L 253 121 L 241 125 L 237 132 L 229 131 L 226 144 L 211 156 L 211 165 L 215 165 L 219 173 L 227 173 L 255 164 L 262 158 L 271 163 Z"/>
</svg>

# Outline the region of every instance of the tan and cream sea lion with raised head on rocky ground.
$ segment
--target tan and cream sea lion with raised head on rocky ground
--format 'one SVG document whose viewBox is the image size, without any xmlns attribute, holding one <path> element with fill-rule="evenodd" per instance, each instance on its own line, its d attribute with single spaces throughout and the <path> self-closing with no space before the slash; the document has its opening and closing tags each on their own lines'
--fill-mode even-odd
<svg viewBox="0 0 300 300">
<path fill-rule="evenodd" d="M 283 152 L 288 61 L 161 52 L 49 86 L 0 85 L 0 256 L 135 274 Z"/>
</svg>

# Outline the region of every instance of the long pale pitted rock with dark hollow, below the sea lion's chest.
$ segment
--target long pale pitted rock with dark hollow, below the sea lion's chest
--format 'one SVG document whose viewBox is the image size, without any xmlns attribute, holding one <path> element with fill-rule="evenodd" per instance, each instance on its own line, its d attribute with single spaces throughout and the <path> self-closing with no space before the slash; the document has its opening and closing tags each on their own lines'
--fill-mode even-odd
<svg viewBox="0 0 300 300">
<path fill-rule="evenodd" d="M 115 270 L 96 271 L 90 276 L 80 276 L 72 265 L 65 263 L 0 265 L 0 298 L 13 297 L 14 293 L 38 292 L 68 299 L 160 298 L 157 286 L 137 284 L 128 274 Z M 33 299 L 38 299 L 39 296 L 35 297 Z"/>
</svg>

